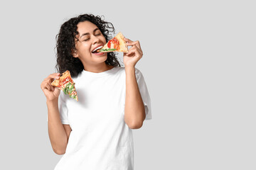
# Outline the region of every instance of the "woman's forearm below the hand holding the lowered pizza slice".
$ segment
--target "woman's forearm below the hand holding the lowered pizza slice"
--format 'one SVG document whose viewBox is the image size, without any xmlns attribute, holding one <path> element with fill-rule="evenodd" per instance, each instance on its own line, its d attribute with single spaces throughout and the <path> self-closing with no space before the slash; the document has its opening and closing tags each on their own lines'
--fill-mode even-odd
<svg viewBox="0 0 256 170">
<path fill-rule="evenodd" d="M 68 137 L 60 120 L 58 101 L 47 101 L 48 107 L 48 135 L 50 144 L 56 154 L 64 154 L 68 144 Z"/>
</svg>

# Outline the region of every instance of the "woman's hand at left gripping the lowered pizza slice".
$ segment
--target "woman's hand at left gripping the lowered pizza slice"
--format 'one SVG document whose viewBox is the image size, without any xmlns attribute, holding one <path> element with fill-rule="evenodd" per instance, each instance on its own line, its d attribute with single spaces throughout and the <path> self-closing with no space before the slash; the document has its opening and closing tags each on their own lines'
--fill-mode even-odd
<svg viewBox="0 0 256 170">
<path fill-rule="evenodd" d="M 54 79 L 59 78 L 60 73 L 53 73 L 46 77 L 41 83 L 41 89 L 43 94 L 45 94 L 47 101 L 55 101 L 58 99 L 58 96 L 60 96 L 60 89 L 51 85 Z"/>
</svg>

